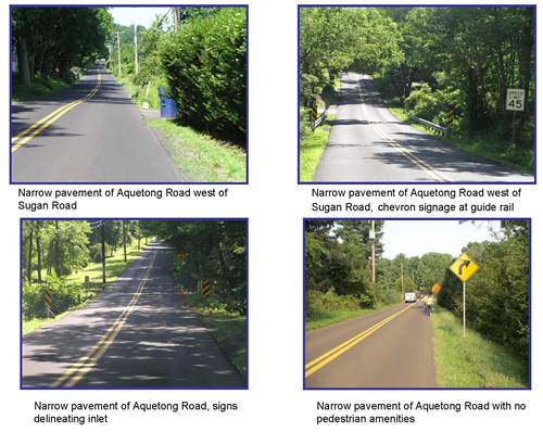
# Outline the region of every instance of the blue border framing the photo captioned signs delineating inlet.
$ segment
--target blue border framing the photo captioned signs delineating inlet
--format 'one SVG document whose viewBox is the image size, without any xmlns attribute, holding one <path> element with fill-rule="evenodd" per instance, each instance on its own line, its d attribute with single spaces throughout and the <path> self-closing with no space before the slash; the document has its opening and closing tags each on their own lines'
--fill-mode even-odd
<svg viewBox="0 0 543 432">
<path fill-rule="evenodd" d="M 23 386 L 23 221 L 26 220 L 243 220 L 245 221 L 245 283 L 247 283 L 247 320 L 245 320 L 245 385 L 241 387 L 207 387 L 207 386 L 194 386 L 194 387 L 41 387 L 41 386 Z M 143 217 L 143 218 L 127 218 L 127 217 L 22 217 L 20 219 L 20 390 L 52 390 L 52 391 L 70 391 L 70 390 L 249 390 L 249 218 L 247 217 Z M 199 318 L 200 319 L 200 318 Z"/>
</svg>

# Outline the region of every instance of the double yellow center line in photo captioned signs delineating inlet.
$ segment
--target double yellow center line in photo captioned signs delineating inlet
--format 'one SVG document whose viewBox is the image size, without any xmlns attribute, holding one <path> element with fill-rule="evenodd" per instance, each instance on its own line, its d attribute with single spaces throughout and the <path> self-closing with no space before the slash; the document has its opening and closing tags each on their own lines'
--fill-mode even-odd
<svg viewBox="0 0 543 432">
<path fill-rule="evenodd" d="M 125 325 L 126 320 L 128 319 L 128 315 L 130 315 L 134 307 L 138 303 L 141 292 L 143 291 L 143 285 L 146 284 L 146 281 L 149 278 L 151 269 L 153 268 L 157 253 L 159 251 L 154 253 L 151 259 L 151 264 L 149 265 L 146 275 L 141 279 L 141 282 L 138 289 L 136 290 L 136 293 L 131 297 L 128 306 L 126 306 L 126 308 L 115 320 L 115 322 L 113 322 L 113 325 L 100 338 L 100 340 L 89 350 L 89 352 L 85 354 L 81 358 L 79 358 L 79 360 L 77 360 L 77 363 L 74 366 L 72 366 L 62 377 L 60 377 L 56 381 L 54 381 L 50 385 L 50 387 L 59 387 L 59 386 L 73 387 L 85 377 L 85 374 L 87 374 L 94 367 L 100 357 L 103 356 L 105 351 L 110 347 L 110 345 L 113 343 L 118 332 Z"/>
</svg>

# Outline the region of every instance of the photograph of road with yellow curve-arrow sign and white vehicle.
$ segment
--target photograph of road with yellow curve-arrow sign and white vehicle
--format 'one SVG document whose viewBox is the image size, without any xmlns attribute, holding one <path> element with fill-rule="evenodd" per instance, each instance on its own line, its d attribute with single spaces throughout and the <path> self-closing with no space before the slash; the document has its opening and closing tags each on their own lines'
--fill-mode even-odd
<svg viewBox="0 0 543 432">
<path fill-rule="evenodd" d="M 531 389 L 531 219 L 304 219 L 304 389 Z"/>
</svg>

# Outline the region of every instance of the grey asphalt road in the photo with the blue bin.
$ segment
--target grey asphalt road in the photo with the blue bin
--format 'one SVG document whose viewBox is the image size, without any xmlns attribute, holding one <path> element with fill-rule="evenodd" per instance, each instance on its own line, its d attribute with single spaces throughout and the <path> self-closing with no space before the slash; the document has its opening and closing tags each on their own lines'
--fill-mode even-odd
<svg viewBox="0 0 543 432">
<path fill-rule="evenodd" d="M 188 181 L 102 64 L 66 90 L 11 109 L 12 182 Z"/>
</svg>

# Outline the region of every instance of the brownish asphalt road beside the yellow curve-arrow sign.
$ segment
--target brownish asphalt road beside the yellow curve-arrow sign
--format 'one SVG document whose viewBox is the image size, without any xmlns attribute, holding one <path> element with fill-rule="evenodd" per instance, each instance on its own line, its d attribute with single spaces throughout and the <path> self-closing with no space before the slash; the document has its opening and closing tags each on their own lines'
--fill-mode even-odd
<svg viewBox="0 0 543 432">
<path fill-rule="evenodd" d="M 435 389 L 430 318 L 420 302 L 305 333 L 307 389 Z"/>
</svg>

